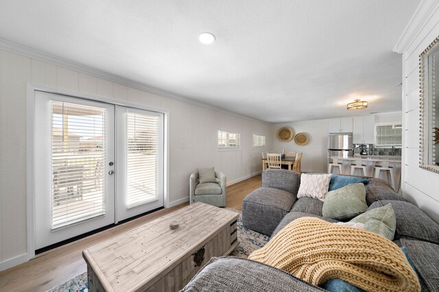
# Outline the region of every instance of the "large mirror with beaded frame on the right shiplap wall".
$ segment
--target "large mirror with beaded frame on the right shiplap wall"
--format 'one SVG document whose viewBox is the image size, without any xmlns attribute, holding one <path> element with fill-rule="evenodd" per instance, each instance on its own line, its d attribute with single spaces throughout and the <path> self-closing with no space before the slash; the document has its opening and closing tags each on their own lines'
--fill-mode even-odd
<svg viewBox="0 0 439 292">
<path fill-rule="evenodd" d="M 439 36 L 420 54 L 420 159 L 439 173 Z M 437 100 L 437 101 L 436 101 Z"/>
</svg>

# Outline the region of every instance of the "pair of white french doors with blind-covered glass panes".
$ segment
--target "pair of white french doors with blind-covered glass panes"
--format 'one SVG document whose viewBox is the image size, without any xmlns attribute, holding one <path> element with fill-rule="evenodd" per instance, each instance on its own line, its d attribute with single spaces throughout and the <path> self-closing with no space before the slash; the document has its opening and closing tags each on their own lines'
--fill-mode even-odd
<svg viewBox="0 0 439 292">
<path fill-rule="evenodd" d="M 163 206 L 163 114 L 36 91 L 34 125 L 36 249 Z"/>
</svg>

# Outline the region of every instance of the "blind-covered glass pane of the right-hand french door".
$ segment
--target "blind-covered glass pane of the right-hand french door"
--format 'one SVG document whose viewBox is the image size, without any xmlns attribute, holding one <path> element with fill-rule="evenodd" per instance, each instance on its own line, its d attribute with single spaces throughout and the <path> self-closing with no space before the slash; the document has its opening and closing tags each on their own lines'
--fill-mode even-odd
<svg viewBox="0 0 439 292">
<path fill-rule="evenodd" d="M 157 197 L 159 117 L 127 112 L 127 208 Z"/>
</svg>

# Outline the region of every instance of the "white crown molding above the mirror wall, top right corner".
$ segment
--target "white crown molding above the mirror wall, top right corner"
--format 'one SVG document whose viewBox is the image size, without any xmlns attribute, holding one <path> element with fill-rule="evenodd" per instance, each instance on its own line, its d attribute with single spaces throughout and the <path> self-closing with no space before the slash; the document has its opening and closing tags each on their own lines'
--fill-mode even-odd
<svg viewBox="0 0 439 292">
<path fill-rule="evenodd" d="M 412 19 L 410 19 L 407 27 L 396 42 L 393 51 L 396 53 L 405 53 L 412 45 L 416 36 L 425 24 L 431 19 L 439 8 L 439 0 L 423 0 L 420 2 L 418 8 L 414 12 Z"/>
</svg>

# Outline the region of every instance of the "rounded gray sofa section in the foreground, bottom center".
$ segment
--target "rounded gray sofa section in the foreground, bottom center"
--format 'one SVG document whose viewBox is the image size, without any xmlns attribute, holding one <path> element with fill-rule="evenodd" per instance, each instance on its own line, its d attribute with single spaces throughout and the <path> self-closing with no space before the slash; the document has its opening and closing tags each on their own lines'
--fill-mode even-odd
<svg viewBox="0 0 439 292">
<path fill-rule="evenodd" d="M 211 258 L 182 291 L 324 291 L 292 274 L 233 256 Z"/>
</svg>

